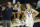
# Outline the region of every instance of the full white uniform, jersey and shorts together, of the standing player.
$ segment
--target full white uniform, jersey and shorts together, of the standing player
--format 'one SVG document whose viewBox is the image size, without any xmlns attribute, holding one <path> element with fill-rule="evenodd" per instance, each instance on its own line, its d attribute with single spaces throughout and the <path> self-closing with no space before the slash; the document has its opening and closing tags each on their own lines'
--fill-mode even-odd
<svg viewBox="0 0 40 27">
<path fill-rule="evenodd" d="M 26 26 L 33 27 L 33 16 L 32 16 L 31 9 L 29 12 L 26 9 Z"/>
</svg>

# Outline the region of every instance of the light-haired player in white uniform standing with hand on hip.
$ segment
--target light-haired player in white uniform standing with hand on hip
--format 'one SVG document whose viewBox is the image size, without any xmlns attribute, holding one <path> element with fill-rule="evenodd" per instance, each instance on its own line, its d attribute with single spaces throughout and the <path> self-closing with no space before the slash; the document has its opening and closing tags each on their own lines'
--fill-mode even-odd
<svg viewBox="0 0 40 27">
<path fill-rule="evenodd" d="M 33 23 L 34 23 L 33 18 L 35 16 L 37 16 L 39 14 L 39 12 L 32 9 L 30 4 L 26 4 L 26 8 L 27 9 L 25 10 L 25 12 L 26 12 L 26 14 L 25 14 L 25 16 L 26 16 L 26 25 L 25 25 L 25 27 L 33 27 Z"/>
</svg>

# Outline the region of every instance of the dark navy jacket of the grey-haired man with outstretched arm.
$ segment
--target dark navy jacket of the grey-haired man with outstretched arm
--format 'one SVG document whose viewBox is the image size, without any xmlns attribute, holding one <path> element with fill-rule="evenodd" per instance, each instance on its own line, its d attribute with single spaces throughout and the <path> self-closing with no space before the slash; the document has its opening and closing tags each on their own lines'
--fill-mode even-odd
<svg viewBox="0 0 40 27">
<path fill-rule="evenodd" d="M 13 12 L 17 12 L 17 10 L 14 10 L 12 7 L 11 8 L 5 8 L 5 10 L 2 12 L 3 14 L 3 20 L 11 20 L 11 15 L 12 15 L 12 11 Z"/>
</svg>

